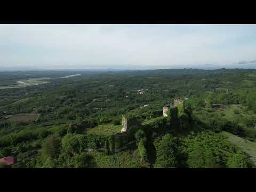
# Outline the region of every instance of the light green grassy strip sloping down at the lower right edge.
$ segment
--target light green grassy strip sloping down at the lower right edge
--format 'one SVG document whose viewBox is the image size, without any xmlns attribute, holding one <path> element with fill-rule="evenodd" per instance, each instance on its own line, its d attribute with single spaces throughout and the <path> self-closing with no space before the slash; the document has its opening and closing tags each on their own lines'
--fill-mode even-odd
<svg viewBox="0 0 256 192">
<path fill-rule="evenodd" d="M 228 140 L 231 143 L 241 148 L 246 154 L 248 154 L 254 167 L 256 167 L 256 142 L 243 139 L 226 131 L 222 131 L 220 134 L 228 137 Z"/>
</svg>

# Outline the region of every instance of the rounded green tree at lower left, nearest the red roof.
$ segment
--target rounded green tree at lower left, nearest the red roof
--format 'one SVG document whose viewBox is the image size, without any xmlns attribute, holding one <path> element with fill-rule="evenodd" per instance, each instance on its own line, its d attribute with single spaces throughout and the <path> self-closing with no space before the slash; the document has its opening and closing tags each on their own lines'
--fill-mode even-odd
<svg viewBox="0 0 256 192">
<path fill-rule="evenodd" d="M 46 139 L 42 146 L 42 153 L 46 157 L 57 158 L 60 154 L 60 137 L 54 134 Z"/>
</svg>

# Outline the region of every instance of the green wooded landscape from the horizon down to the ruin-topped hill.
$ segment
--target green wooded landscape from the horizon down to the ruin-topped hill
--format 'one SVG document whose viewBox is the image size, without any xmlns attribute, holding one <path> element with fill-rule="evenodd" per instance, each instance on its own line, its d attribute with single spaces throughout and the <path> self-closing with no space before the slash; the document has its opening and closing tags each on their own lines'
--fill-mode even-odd
<svg viewBox="0 0 256 192">
<path fill-rule="evenodd" d="M 0 167 L 255 167 L 255 85 L 254 69 L 2 71 L 0 158 L 17 161 Z"/>
</svg>

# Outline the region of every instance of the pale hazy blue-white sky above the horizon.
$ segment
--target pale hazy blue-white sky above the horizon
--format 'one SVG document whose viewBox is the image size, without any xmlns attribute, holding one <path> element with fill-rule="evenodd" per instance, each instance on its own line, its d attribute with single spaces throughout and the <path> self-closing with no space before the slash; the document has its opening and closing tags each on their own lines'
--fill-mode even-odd
<svg viewBox="0 0 256 192">
<path fill-rule="evenodd" d="M 256 25 L 0 25 L 0 69 L 256 68 Z"/>
</svg>

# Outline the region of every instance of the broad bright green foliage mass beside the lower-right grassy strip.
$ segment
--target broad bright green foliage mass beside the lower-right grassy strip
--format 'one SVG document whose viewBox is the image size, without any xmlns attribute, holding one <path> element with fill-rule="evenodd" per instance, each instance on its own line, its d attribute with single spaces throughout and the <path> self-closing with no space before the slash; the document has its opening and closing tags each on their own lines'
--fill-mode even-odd
<svg viewBox="0 0 256 192">
<path fill-rule="evenodd" d="M 214 132 L 201 132 L 189 137 L 188 166 L 193 168 L 244 167 L 245 156 L 225 137 Z"/>
</svg>

